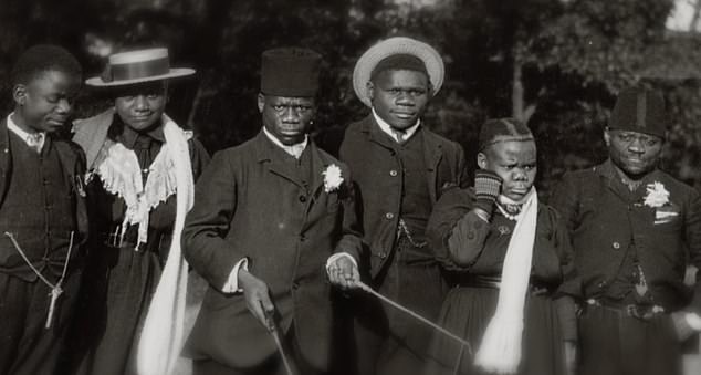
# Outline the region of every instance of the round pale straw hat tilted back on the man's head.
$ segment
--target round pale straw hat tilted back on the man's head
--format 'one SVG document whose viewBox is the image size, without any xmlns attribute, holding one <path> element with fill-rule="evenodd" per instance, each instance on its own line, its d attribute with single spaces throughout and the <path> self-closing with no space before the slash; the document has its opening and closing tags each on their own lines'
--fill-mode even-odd
<svg viewBox="0 0 701 375">
<path fill-rule="evenodd" d="M 411 38 L 389 38 L 365 51 L 353 70 L 353 88 L 355 90 L 355 94 L 360 102 L 368 107 L 372 106 L 372 103 L 368 96 L 367 83 L 370 81 L 370 75 L 375 66 L 377 66 L 380 61 L 397 54 L 409 54 L 423 62 L 431 81 L 431 86 L 433 87 L 433 95 L 436 95 L 442 86 L 446 67 L 443 65 L 443 59 L 440 58 L 436 49 Z"/>
</svg>

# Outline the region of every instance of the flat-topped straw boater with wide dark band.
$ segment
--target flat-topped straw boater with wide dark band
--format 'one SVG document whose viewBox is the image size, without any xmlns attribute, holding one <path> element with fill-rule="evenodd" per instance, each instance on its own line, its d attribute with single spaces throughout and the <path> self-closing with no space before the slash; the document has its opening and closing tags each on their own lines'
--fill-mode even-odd
<svg viewBox="0 0 701 375">
<path fill-rule="evenodd" d="M 115 53 L 109 56 L 100 76 L 85 81 L 88 86 L 111 87 L 143 82 L 163 81 L 195 74 L 193 69 L 170 67 L 165 48 Z"/>
</svg>

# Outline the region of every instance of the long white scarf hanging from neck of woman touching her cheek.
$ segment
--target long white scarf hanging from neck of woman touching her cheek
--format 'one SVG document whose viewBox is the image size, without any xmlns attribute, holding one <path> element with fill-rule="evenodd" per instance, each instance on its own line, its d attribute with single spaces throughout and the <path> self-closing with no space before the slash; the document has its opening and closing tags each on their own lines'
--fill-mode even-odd
<svg viewBox="0 0 701 375">
<path fill-rule="evenodd" d="M 490 373 L 514 374 L 521 363 L 523 315 L 531 278 L 537 207 L 537 194 L 535 188 L 531 188 L 506 248 L 496 311 L 474 355 L 474 364 Z"/>
</svg>

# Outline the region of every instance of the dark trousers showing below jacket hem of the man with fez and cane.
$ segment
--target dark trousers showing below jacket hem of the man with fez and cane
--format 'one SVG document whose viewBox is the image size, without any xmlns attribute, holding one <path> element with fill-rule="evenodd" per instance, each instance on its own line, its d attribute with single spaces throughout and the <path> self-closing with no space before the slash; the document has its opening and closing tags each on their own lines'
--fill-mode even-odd
<svg viewBox="0 0 701 375">
<path fill-rule="evenodd" d="M 273 354 L 261 365 L 251 368 L 232 368 L 213 360 L 192 361 L 192 375 L 323 375 L 325 372 L 312 367 L 305 360 L 294 334 L 294 324 L 290 332 L 281 337 L 282 346 L 292 367 L 292 374 L 287 371 L 279 353 Z"/>
</svg>

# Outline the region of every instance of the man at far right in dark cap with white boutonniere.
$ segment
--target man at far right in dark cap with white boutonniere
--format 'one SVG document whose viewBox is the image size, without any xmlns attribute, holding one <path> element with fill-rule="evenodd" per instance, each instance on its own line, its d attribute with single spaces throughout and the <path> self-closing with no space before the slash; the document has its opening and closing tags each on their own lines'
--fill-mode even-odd
<svg viewBox="0 0 701 375">
<path fill-rule="evenodd" d="M 604 139 L 608 159 L 563 177 L 551 204 L 572 235 L 583 282 L 580 374 L 680 374 L 680 342 L 701 331 L 701 197 L 658 169 L 662 96 L 618 96 Z"/>
</svg>

